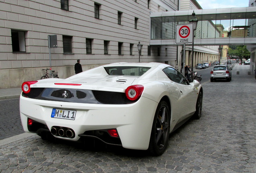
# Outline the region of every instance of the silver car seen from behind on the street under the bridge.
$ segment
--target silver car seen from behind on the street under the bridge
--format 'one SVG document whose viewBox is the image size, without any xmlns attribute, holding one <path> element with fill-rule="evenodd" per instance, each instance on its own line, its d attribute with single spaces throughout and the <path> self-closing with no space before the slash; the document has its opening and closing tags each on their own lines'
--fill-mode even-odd
<svg viewBox="0 0 256 173">
<path fill-rule="evenodd" d="M 217 79 L 225 79 L 228 82 L 231 80 L 231 68 L 229 66 L 217 65 L 211 70 L 210 80 L 211 82 Z"/>
</svg>

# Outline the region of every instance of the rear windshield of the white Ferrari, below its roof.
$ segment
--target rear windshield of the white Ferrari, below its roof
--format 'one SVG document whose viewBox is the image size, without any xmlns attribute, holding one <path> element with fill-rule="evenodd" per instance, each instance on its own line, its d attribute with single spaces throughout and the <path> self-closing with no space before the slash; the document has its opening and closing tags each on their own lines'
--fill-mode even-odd
<svg viewBox="0 0 256 173">
<path fill-rule="evenodd" d="M 104 67 L 107 74 L 118 75 L 118 76 L 141 76 L 147 72 L 151 67 L 140 67 L 140 66 L 111 66 Z"/>
</svg>

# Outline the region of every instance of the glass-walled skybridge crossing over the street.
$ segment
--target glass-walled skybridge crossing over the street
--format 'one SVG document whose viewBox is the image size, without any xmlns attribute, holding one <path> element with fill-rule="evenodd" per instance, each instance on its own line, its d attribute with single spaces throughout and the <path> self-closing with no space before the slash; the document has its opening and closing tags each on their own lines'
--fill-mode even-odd
<svg viewBox="0 0 256 173">
<path fill-rule="evenodd" d="M 256 44 L 256 7 L 151 13 L 150 44 L 177 45 L 176 25 L 189 23 L 193 11 L 198 19 L 195 45 Z"/>
</svg>

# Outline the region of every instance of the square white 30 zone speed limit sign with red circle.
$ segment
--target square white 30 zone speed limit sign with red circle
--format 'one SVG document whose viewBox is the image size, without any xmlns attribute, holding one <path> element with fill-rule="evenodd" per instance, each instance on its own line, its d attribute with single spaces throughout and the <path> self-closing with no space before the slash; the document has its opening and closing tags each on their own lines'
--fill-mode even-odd
<svg viewBox="0 0 256 173">
<path fill-rule="evenodd" d="M 193 42 L 193 24 L 176 25 L 176 44 Z"/>
</svg>

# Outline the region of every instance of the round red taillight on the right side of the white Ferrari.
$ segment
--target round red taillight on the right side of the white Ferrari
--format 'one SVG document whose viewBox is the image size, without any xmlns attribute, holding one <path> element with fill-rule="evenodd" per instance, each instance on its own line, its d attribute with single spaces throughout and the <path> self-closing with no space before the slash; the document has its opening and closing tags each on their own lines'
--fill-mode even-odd
<svg viewBox="0 0 256 173">
<path fill-rule="evenodd" d="M 132 85 L 126 89 L 125 95 L 130 101 L 135 101 L 140 98 L 143 90 L 143 85 Z"/>
</svg>

